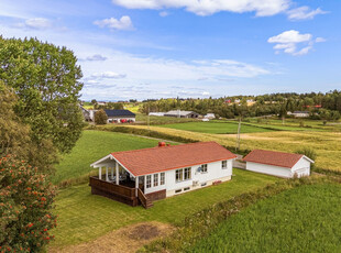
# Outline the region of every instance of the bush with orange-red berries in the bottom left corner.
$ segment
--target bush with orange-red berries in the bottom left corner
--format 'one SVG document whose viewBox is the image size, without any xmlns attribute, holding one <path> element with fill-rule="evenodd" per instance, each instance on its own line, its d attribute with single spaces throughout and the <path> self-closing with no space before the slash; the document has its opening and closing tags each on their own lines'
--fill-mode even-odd
<svg viewBox="0 0 341 253">
<path fill-rule="evenodd" d="M 40 252 L 54 238 L 54 197 L 55 187 L 37 168 L 14 156 L 0 158 L 1 252 Z"/>
</svg>

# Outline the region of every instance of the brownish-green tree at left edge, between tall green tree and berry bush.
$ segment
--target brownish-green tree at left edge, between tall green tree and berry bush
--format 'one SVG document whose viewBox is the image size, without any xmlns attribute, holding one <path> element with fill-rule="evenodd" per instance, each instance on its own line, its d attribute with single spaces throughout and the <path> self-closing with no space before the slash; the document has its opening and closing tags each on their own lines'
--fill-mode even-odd
<svg viewBox="0 0 341 253">
<path fill-rule="evenodd" d="M 18 102 L 15 94 L 0 81 L 0 156 L 14 154 L 31 165 L 53 173 L 58 161 L 56 148 L 51 140 L 40 143 L 31 140 L 31 129 L 13 111 Z"/>
</svg>

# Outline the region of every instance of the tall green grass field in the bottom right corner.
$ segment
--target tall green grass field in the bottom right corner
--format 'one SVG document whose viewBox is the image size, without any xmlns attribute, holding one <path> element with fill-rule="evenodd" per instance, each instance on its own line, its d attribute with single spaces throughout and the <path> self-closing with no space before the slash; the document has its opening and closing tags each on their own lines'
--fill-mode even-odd
<svg viewBox="0 0 341 253">
<path fill-rule="evenodd" d="M 222 222 L 188 252 L 341 252 L 341 186 L 284 191 Z"/>
</svg>

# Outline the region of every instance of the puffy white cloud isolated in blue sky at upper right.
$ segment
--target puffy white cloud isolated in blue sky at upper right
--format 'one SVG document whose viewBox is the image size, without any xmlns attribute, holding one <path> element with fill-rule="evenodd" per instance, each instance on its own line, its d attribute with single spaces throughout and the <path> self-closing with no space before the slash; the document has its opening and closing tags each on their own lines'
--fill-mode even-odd
<svg viewBox="0 0 341 253">
<path fill-rule="evenodd" d="M 324 42 L 323 37 L 312 40 L 310 33 L 301 34 L 296 30 L 285 31 L 276 36 L 267 40 L 268 43 L 275 43 L 274 50 L 278 54 L 282 50 L 290 55 L 305 55 L 308 54 L 314 47 L 315 42 Z"/>
</svg>

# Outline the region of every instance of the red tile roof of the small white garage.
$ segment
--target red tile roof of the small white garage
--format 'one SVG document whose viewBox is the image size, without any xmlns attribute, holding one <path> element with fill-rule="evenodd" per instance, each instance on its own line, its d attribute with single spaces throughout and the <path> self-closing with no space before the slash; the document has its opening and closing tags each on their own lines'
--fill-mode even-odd
<svg viewBox="0 0 341 253">
<path fill-rule="evenodd" d="M 302 156 L 301 154 L 254 150 L 243 161 L 292 168 Z"/>
</svg>

